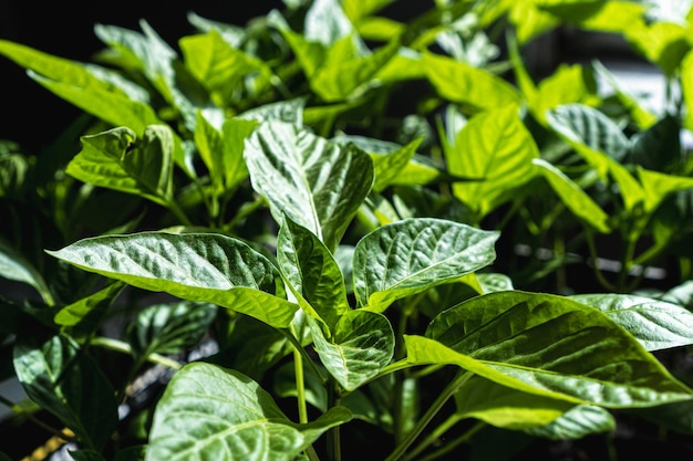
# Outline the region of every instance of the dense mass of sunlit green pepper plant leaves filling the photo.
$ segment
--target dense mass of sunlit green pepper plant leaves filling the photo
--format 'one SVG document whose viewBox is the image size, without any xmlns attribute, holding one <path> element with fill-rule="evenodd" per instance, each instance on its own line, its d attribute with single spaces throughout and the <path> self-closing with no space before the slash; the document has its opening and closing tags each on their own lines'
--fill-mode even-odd
<svg viewBox="0 0 693 461">
<path fill-rule="evenodd" d="M 610 432 L 624 410 L 693 432 L 686 377 L 652 354 L 693 343 L 687 17 L 285 3 L 242 28 L 192 13 L 178 49 L 99 24 L 99 64 L 0 41 L 85 114 L 76 154 L 72 133 L 0 150 L 0 369 L 30 399 L 0 396 L 13 423 L 77 461 L 433 460 L 485 430 Z M 536 83 L 523 51 L 567 25 L 620 34 L 681 99 L 656 114 L 599 62 Z M 623 247 L 613 277 L 601 238 Z M 501 239 L 530 247 L 524 270 Z M 572 254 L 593 292 L 569 293 Z M 637 292 L 665 256 L 681 277 Z"/>
</svg>

